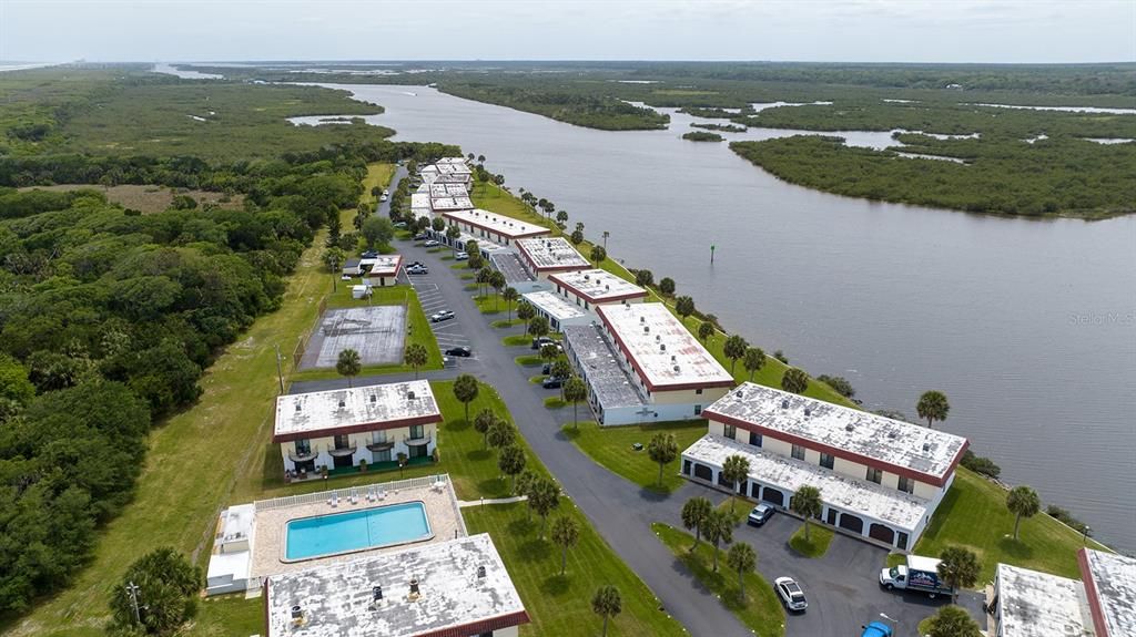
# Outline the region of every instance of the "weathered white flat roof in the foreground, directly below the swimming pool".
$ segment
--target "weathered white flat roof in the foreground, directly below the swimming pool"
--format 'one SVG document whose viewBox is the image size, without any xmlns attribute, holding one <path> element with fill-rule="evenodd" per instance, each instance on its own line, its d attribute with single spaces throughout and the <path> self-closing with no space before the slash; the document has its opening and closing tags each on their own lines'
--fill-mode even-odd
<svg viewBox="0 0 1136 637">
<path fill-rule="evenodd" d="M 415 578 L 419 596 L 411 598 Z M 383 592 L 377 605 L 375 586 Z M 300 626 L 293 606 L 303 613 Z M 269 637 L 476 635 L 528 622 L 486 533 L 272 576 L 267 608 Z"/>
</svg>

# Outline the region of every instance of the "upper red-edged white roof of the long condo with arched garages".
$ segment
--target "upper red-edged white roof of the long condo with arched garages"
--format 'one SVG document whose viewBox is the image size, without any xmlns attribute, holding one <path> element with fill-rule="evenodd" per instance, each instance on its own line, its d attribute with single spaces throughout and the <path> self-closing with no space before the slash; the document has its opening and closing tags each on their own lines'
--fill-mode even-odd
<svg viewBox="0 0 1136 637">
<path fill-rule="evenodd" d="M 743 383 L 702 413 L 715 421 L 755 425 L 775 438 L 787 434 L 938 481 L 945 479 L 967 448 L 962 436 L 754 383 Z"/>
</svg>

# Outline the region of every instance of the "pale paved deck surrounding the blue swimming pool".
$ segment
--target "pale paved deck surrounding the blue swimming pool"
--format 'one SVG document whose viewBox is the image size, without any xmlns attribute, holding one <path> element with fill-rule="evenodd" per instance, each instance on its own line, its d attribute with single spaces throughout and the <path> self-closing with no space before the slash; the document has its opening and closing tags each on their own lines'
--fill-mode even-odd
<svg viewBox="0 0 1136 637">
<path fill-rule="evenodd" d="M 382 486 L 382 485 L 378 485 Z M 256 537 L 252 542 L 252 577 L 265 577 L 282 572 L 294 572 L 315 567 L 323 567 L 339 562 L 354 560 L 361 557 L 376 555 L 392 551 L 403 551 L 409 546 L 435 544 L 463 536 L 465 529 L 461 525 L 460 512 L 457 509 L 457 500 L 453 498 L 452 486 L 449 483 L 441 491 L 431 486 L 414 486 L 386 491 L 383 500 L 370 502 L 366 498 L 366 489 L 360 487 L 360 498 L 351 504 L 350 500 L 340 498 L 339 506 L 332 507 L 327 503 L 328 493 L 323 499 L 291 507 L 279 507 L 272 509 L 257 509 L 256 513 Z M 429 540 L 396 544 L 384 549 L 366 549 L 353 551 L 327 558 L 315 558 L 310 560 L 299 560 L 285 562 L 285 526 L 290 520 L 308 518 L 311 516 L 326 516 L 332 513 L 344 513 L 350 511 L 362 511 L 377 509 L 391 504 L 420 501 L 426 507 L 426 518 L 429 520 L 431 532 L 434 534 Z"/>
</svg>

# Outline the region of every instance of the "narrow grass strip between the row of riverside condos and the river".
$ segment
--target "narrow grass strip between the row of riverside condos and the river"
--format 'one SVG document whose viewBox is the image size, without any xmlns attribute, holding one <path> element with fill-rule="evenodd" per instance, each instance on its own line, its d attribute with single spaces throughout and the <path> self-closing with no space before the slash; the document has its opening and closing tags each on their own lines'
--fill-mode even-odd
<svg viewBox="0 0 1136 637">
<path fill-rule="evenodd" d="M 491 212 L 495 212 L 504 216 L 520 219 L 529 223 L 544 226 L 545 228 L 550 228 L 552 230 L 553 236 L 565 235 L 565 232 L 561 231 L 556 223 L 537 214 L 527 205 L 525 205 L 525 203 L 521 202 L 519 198 L 515 197 L 510 193 L 507 193 L 498 188 L 495 185 L 478 184 L 477 187 L 474 189 L 473 199 L 474 199 L 474 205 L 481 209 L 488 210 Z M 571 222 L 569 222 L 569 226 Z M 579 249 L 580 254 L 587 256 L 592 252 L 592 245 L 593 244 L 591 244 L 590 241 L 584 241 L 579 246 L 577 246 L 577 249 Z M 609 245 L 609 247 L 611 246 Z M 608 272 L 611 272 L 612 274 L 624 280 L 635 282 L 635 277 L 621 263 L 615 261 L 610 256 L 600 262 L 600 267 L 607 270 Z M 657 275 L 665 277 L 666 274 L 657 273 Z M 675 306 L 669 299 L 662 298 L 661 296 L 655 294 L 654 290 L 648 290 L 648 291 L 649 291 L 648 300 L 665 301 L 667 303 L 667 306 L 668 308 L 670 308 L 671 312 L 675 311 Z M 678 294 L 684 294 L 684 290 L 679 289 Z M 684 325 L 686 325 L 686 329 L 692 334 L 695 336 L 698 334 L 701 321 L 699 321 L 693 316 L 690 316 L 683 323 Z M 705 342 L 704 345 L 707 349 L 710 351 L 710 354 L 712 354 L 713 357 L 717 358 L 718 362 L 724 367 L 726 367 L 726 370 L 729 370 L 730 362 L 728 358 L 726 358 L 726 355 L 722 353 L 722 346 L 725 345 L 725 342 L 726 342 L 726 336 L 722 334 L 721 332 L 716 332 L 715 336 L 708 339 L 708 342 Z M 785 374 L 785 370 L 788 367 L 788 365 L 785 365 L 780 360 L 774 358 L 771 351 L 767 354 L 768 358 L 766 365 L 753 375 L 753 382 L 780 389 L 780 379 L 782 375 Z M 750 373 L 746 372 L 745 368 L 742 366 L 741 360 L 737 362 L 737 365 L 735 367 L 736 368 L 733 374 L 736 381 L 742 382 L 750 380 Z M 809 388 L 805 390 L 804 394 L 812 398 L 817 398 L 819 400 L 827 400 L 828 402 L 844 405 L 846 407 L 855 407 L 855 404 L 853 404 L 851 400 L 836 393 L 836 391 L 834 391 L 825 383 L 818 382 L 816 380 L 809 382 Z M 912 399 L 914 399 L 914 397 L 912 397 Z"/>
</svg>

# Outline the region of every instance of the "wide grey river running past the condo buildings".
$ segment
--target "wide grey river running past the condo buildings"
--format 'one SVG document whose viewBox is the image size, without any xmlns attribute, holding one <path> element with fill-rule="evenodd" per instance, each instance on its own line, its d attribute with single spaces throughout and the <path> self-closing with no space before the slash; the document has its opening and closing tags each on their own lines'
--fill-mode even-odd
<svg viewBox="0 0 1136 637">
<path fill-rule="evenodd" d="M 924 390 L 946 392 L 937 427 L 1136 550 L 1136 218 L 1029 221 L 828 195 L 726 144 L 679 139 L 694 119 L 670 110 L 670 130 L 611 133 L 426 87 L 336 87 L 382 104 L 367 119 L 396 139 L 486 155 L 515 192 L 552 199 L 588 237 L 609 231 L 615 256 L 674 278 L 752 343 L 847 377 L 866 407 L 914 417 Z"/>
</svg>

